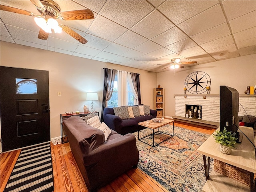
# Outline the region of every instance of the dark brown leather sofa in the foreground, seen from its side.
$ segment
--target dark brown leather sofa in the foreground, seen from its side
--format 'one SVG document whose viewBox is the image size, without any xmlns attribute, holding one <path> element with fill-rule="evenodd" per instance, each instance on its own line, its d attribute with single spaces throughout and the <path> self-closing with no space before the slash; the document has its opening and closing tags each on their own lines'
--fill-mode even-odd
<svg viewBox="0 0 256 192">
<path fill-rule="evenodd" d="M 111 130 L 108 140 L 102 130 L 79 116 L 63 120 L 70 148 L 90 191 L 106 185 L 126 170 L 136 167 L 139 152 L 132 134 L 124 136 Z"/>
</svg>

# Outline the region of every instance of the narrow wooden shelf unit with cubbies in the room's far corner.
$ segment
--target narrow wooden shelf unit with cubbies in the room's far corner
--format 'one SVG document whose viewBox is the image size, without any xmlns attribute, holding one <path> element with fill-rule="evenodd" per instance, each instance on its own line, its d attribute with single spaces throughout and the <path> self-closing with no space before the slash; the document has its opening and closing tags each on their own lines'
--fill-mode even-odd
<svg viewBox="0 0 256 192">
<path fill-rule="evenodd" d="M 158 117 L 164 116 L 164 88 L 154 88 L 154 110 Z"/>
</svg>

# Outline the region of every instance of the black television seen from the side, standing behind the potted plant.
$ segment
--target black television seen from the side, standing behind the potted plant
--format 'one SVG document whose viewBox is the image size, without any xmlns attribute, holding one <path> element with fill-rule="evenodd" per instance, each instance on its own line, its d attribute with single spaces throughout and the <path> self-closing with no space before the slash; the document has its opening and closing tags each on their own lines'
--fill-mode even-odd
<svg viewBox="0 0 256 192">
<path fill-rule="evenodd" d="M 239 93 L 228 86 L 220 86 L 220 131 L 226 127 L 227 131 L 236 134 L 237 142 L 241 142 L 242 134 L 239 134 Z"/>
</svg>

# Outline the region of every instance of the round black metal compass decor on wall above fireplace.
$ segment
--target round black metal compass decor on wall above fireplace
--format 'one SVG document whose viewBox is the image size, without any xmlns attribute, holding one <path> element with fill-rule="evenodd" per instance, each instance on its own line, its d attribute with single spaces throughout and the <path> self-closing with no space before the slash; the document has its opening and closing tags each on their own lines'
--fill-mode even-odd
<svg viewBox="0 0 256 192">
<path fill-rule="evenodd" d="M 206 87 L 210 87 L 210 76 L 202 71 L 190 73 L 185 79 L 185 87 L 192 94 L 202 94 L 207 91 Z"/>
</svg>

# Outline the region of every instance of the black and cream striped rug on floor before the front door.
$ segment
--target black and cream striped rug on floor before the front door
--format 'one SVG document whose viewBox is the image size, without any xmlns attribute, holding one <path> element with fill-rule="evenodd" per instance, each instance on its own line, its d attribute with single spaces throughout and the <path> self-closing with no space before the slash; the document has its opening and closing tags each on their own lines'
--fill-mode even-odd
<svg viewBox="0 0 256 192">
<path fill-rule="evenodd" d="M 4 192 L 52 192 L 50 143 L 22 149 Z"/>
</svg>

